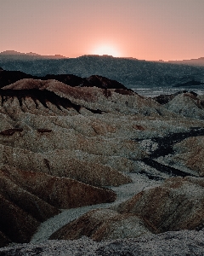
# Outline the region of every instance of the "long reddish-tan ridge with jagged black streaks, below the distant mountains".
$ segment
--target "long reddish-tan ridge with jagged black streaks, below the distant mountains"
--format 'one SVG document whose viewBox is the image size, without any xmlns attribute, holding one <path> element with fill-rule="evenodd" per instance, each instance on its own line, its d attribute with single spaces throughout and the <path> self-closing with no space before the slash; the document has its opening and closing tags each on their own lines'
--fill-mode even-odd
<svg viewBox="0 0 204 256">
<path fill-rule="evenodd" d="M 35 92 L 36 89 L 42 90 L 42 92 L 38 91 L 37 94 Z M 59 97 L 50 91 L 60 96 L 61 99 L 59 100 Z M 63 108 L 72 107 L 77 109 L 77 111 L 81 107 L 90 109 L 91 111 L 100 110 L 113 113 L 141 113 L 156 116 L 170 114 L 165 108 L 161 108 L 158 103 L 150 98 L 144 98 L 133 92 L 123 94 L 117 92 L 120 92 L 120 90 L 99 89 L 96 87 L 71 87 L 56 80 L 22 79 L 14 84 L 3 87 L 1 94 L 5 103 L 8 102 L 9 98 L 14 98 L 16 94 L 18 99 L 20 98 L 21 106 L 23 105 L 23 101 L 29 97 L 34 102 L 37 102 L 35 103 L 37 108 L 39 105 L 38 102 L 41 102 L 45 108 L 48 108 L 46 102 L 51 102 L 55 106 L 60 105 Z M 74 107 L 76 105 L 77 108 Z"/>
</svg>

